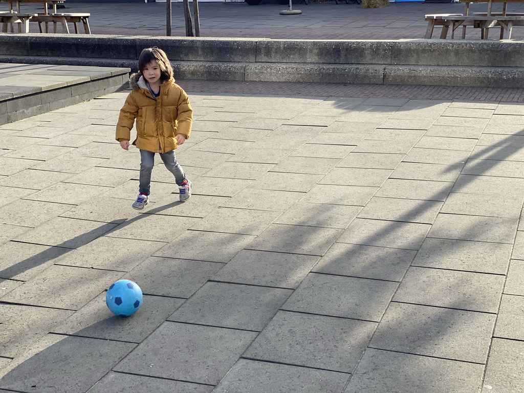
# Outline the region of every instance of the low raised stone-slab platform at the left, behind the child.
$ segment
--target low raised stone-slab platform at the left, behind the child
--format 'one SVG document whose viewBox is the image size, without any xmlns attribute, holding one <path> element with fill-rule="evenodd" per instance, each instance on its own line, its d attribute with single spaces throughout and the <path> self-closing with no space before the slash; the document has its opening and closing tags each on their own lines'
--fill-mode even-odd
<svg viewBox="0 0 524 393">
<path fill-rule="evenodd" d="M 0 125 L 125 89 L 128 80 L 122 67 L 0 62 Z"/>
</svg>

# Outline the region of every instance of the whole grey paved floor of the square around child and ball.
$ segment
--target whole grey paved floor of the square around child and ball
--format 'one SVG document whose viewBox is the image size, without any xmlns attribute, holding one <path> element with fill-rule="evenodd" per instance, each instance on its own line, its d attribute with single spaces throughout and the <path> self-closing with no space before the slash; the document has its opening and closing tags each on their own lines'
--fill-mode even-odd
<svg viewBox="0 0 524 393">
<path fill-rule="evenodd" d="M 130 208 L 138 155 L 112 140 L 126 92 L 0 126 L 0 389 L 524 389 L 520 105 L 179 82 L 184 204 L 158 167 L 151 205 Z M 125 320 L 104 304 L 119 278 L 145 293 Z"/>
</svg>

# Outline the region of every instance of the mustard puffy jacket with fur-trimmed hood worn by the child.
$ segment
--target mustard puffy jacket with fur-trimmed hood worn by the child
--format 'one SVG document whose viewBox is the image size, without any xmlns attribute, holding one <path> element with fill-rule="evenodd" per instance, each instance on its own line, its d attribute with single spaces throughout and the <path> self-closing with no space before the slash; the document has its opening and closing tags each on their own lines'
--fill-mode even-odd
<svg viewBox="0 0 524 393">
<path fill-rule="evenodd" d="M 137 136 L 133 145 L 141 150 L 166 153 L 178 147 L 177 134 L 189 138 L 193 110 L 188 95 L 173 78 L 160 85 L 156 100 L 140 73 L 131 75 L 129 85 L 133 91 L 120 110 L 116 140 L 130 140 L 135 118 Z"/>
</svg>

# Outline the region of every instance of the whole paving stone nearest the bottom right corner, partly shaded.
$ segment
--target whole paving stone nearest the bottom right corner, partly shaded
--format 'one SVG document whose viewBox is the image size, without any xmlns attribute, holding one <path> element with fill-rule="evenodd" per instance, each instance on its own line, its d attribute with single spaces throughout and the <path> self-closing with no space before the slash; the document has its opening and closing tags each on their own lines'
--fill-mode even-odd
<svg viewBox="0 0 524 393">
<path fill-rule="evenodd" d="M 496 314 L 390 303 L 369 347 L 482 363 Z"/>
</svg>

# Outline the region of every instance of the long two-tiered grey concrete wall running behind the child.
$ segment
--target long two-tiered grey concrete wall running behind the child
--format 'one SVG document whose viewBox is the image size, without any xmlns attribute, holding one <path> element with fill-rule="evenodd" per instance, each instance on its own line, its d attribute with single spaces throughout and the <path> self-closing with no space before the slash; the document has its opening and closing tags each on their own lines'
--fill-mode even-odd
<svg viewBox="0 0 524 393">
<path fill-rule="evenodd" d="M 3 35 L 0 61 L 130 67 L 158 46 L 182 79 L 524 87 L 524 42 Z"/>
</svg>

